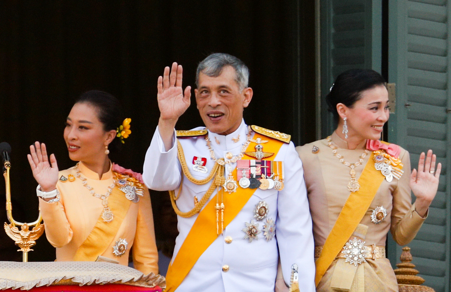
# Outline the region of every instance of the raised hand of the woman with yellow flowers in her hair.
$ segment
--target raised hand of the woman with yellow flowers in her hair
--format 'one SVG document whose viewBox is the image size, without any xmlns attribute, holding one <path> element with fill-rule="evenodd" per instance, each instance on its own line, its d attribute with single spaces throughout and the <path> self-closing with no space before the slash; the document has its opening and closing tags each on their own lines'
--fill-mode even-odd
<svg viewBox="0 0 451 292">
<path fill-rule="evenodd" d="M 35 142 L 30 146 L 30 154 L 27 155 L 33 177 L 41 185 L 41 191 L 51 192 L 58 182 L 58 165 L 54 154 L 50 155 L 50 163 L 47 157 L 46 144 Z"/>
</svg>

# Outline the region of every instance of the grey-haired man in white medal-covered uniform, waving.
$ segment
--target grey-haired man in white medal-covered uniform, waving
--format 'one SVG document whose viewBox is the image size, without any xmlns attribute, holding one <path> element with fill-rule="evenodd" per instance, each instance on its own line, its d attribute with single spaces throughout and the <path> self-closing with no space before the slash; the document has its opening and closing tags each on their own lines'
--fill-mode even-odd
<svg viewBox="0 0 451 292">
<path fill-rule="evenodd" d="M 183 91 L 177 63 L 158 78 L 160 119 L 143 179 L 151 189 L 175 190 L 179 235 L 166 291 L 272 292 L 278 258 L 281 283 L 294 278 L 301 291 L 315 291 L 302 163 L 289 135 L 244 123 L 248 80 L 238 58 L 208 56 L 194 90 L 206 127 L 175 131 L 191 88 Z"/>
</svg>

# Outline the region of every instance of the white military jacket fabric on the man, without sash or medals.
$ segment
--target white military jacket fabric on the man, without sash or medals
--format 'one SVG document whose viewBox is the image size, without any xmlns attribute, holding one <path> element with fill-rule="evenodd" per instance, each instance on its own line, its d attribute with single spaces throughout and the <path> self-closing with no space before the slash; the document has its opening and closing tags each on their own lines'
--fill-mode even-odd
<svg viewBox="0 0 451 292">
<path fill-rule="evenodd" d="M 200 129 L 203 128 L 198 127 L 193 130 Z M 227 160 L 226 153 L 228 152 L 239 155 L 246 142 L 247 133 L 247 126 L 243 120 L 239 128 L 229 135 L 218 135 L 210 131 L 207 135 L 216 158 L 222 157 Z M 251 138 L 253 134 L 251 132 Z M 210 151 L 204 138 L 205 136 L 179 138 L 190 173 L 196 179 L 207 177 L 215 163 L 210 158 Z M 238 141 L 237 138 L 239 138 Z M 181 166 L 177 158 L 175 139 L 174 134 L 172 148 L 165 151 L 157 127 L 144 161 L 143 179 L 148 188 L 159 191 L 179 188 Z M 268 137 L 268 139 L 271 138 Z M 262 145 L 264 147 L 264 144 Z M 207 173 L 193 169 L 195 156 L 206 158 Z M 228 156 L 230 157 L 230 154 Z M 284 163 L 285 187 L 283 190 L 257 188 L 223 234 L 220 234 L 203 252 L 177 291 L 273 292 L 278 255 L 280 255 L 283 276 L 287 285 L 290 283 L 291 265 L 297 264 L 301 291 L 315 291 L 312 218 L 308 207 L 302 162 L 292 142 L 284 143 L 274 160 Z M 236 162 L 231 164 L 231 170 L 235 169 L 236 165 Z M 230 169 L 226 165 L 226 178 L 229 171 Z M 181 194 L 176 201 L 180 211 L 188 212 L 193 209 L 194 196 L 200 200 L 209 186 L 210 183 L 193 184 L 185 177 Z M 216 190 L 210 200 L 215 194 Z M 227 194 L 225 192 L 224 196 Z M 267 218 L 272 219 L 276 224 L 276 237 L 269 240 L 265 238 L 262 231 L 265 219 L 258 221 L 253 217 L 256 205 L 262 201 L 268 205 Z M 197 217 L 198 214 L 189 218 L 178 216 L 179 235 L 175 241 L 172 260 L 175 259 Z M 245 223 L 250 223 L 251 220 L 258 223 L 261 232 L 257 235 L 257 239 L 249 242 L 249 239 L 244 238 L 246 234 L 242 230 L 246 228 Z"/>
</svg>

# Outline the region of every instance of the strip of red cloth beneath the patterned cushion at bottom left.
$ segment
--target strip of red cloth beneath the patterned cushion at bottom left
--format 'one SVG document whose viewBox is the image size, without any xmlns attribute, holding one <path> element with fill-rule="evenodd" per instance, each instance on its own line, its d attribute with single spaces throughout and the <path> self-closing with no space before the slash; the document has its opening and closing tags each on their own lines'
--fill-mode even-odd
<svg viewBox="0 0 451 292">
<path fill-rule="evenodd" d="M 6 289 L 2 290 L 8 292 L 17 292 L 18 289 Z M 23 291 L 23 290 L 19 290 Z M 145 288 L 130 285 L 121 284 L 105 284 L 105 285 L 54 285 L 54 286 L 41 286 L 34 287 L 28 291 L 32 292 L 79 292 L 79 291 L 100 291 L 100 292 L 125 292 L 125 291 L 139 291 L 139 292 L 161 292 L 161 288 L 156 286 L 153 288 Z"/>
</svg>

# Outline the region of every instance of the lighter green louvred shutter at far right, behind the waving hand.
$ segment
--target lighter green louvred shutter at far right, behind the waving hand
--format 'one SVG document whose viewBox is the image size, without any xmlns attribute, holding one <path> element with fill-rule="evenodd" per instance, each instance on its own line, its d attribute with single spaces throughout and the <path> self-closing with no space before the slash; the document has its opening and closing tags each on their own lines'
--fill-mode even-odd
<svg viewBox="0 0 451 292">
<path fill-rule="evenodd" d="M 442 163 L 439 191 L 421 230 L 408 245 L 425 285 L 450 292 L 451 40 L 450 0 L 389 2 L 389 82 L 396 83 L 396 112 L 388 138 L 410 152 L 432 149 Z M 413 198 L 414 199 L 414 198 Z M 401 247 L 390 238 L 388 257 L 399 263 Z M 394 266 L 394 268 L 396 268 Z"/>
</svg>

